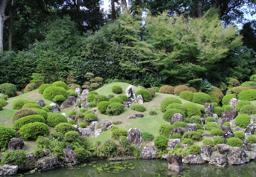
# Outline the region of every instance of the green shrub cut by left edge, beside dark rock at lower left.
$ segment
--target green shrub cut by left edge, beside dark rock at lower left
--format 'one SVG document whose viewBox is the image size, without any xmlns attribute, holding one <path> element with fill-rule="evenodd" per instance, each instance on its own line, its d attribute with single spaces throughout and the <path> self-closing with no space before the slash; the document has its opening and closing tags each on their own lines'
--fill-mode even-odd
<svg viewBox="0 0 256 177">
<path fill-rule="evenodd" d="M 13 127 L 0 125 L 0 149 L 6 148 L 11 138 L 16 137 L 16 131 Z"/>
</svg>

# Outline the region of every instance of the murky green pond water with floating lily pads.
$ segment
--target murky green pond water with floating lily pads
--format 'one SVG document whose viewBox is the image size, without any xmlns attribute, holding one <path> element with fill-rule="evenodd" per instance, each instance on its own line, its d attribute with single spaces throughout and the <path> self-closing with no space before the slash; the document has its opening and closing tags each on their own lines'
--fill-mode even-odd
<svg viewBox="0 0 256 177">
<path fill-rule="evenodd" d="M 41 173 L 22 173 L 16 177 L 23 175 L 24 177 L 256 177 L 256 161 L 237 166 L 228 165 L 226 168 L 218 168 L 209 164 L 185 164 L 185 170 L 180 173 L 167 170 L 167 166 L 166 160 L 124 160 L 118 162 L 97 160 Z"/>
</svg>

